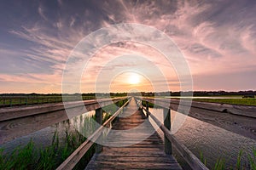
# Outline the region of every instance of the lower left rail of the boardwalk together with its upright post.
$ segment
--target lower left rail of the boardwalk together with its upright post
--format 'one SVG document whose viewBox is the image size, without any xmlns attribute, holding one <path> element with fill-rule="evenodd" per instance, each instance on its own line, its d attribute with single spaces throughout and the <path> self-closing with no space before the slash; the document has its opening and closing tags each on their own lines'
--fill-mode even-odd
<svg viewBox="0 0 256 170">
<path fill-rule="evenodd" d="M 61 169 L 73 169 L 75 165 L 79 162 L 79 160 L 84 156 L 84 154 L 90 150 L 90 147 L 94 144 L 93 141 L 96 141 L 102 136 L 102 130 L 104 127 L 108 127 L 108 125 L 113 122 L 113 120 L 119 116 L 120 113 L 124 110 L 125 106 L 128 105 L 131 98 L 128 99 L 128 101 L 119 107 L 119 110 L 116 111 L 113 116 L 111 116 L 106 122 L 102 124 L 102 108 L 96 109 L 96 121 L 99 124 L 102 124 L 101 127 L 97 128 L 96 131 L 88 137 L 83 144 L 79 146 L 77 150 L 75 150 L 70 156 L 67 157 L 65 161 L 61 163 L 59 167 L 57 167 L 57 170 Z M 99 153 L 102 151 L 102 145 L 96 144 L 96 153 Z"/>
</svg>

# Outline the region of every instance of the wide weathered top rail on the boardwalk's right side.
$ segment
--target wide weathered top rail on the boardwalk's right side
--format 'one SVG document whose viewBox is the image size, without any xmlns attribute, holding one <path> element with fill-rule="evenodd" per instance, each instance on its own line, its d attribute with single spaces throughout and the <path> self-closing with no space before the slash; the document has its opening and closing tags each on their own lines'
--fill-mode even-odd
<svg viewBox="0 0 256 170">
<path fill-rule="evenodd" d="M 178 110 L 179 101 L 175 99 L 142 98 L 155 105 Z M 183 107 L 189 106 L 184 101 Z M 182 109 L 179 110 L 183 113 Z M 247 138 L 256 139 L 256 107 L 239 105 L 221 105 L 203 102 L 192 102 L 189 115 L 203 122 L 224 128 Z"/>
</svg>

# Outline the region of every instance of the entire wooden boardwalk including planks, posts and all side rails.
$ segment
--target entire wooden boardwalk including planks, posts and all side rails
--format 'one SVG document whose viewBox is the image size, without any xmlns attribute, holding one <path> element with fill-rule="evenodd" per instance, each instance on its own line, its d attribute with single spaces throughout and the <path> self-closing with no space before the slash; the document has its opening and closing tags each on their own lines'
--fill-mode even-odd
<svg viewBox="0 0 256 170">
<path fill-rule="evenodd" d="M 102 124 L 102 107 L 113 103 L 119 105 L 119 101 L 125 99 L 127 98 L 69 102 L 65 105 L 65 109 L 73 112 L 73 116 L 79 116 L 85 106 L 87 111 L 96 111 L 96 121 Z M 146 103 L 146 107 L 143 107 L 142 101 Z M 164 124 L 148 111 L 148 103 L 163 108 L 166 117 Z M 75 167 L 95 141 L 100 142 L 96 144 L 96 154 L 86 169 L 181 169 L 172 156 L 173 146 L 189 167 L 207 169 L 169 130 L 171 110 L 177 111 L 178 105 L 178 101 L 170 99 L 128 97 L 125 105 L 119 105 L 119 110 L 96 129 L 95 133 L 91 134 L 57 169 L 66 170 Z M 183 105 L 186 103 L 184 102 Z M 193 102 L 189 116 L 256 139 L 255 112 L 256 107 L 253 106 Z M 163 140 L 148 121 L 148 117 L 164 133 Z M 62 103 L 2 108 L 0 109 L 0 144 L 69 118 Z M 104 136 L 106 127 L 112 128 L 110 133 Z"/>
</svg>

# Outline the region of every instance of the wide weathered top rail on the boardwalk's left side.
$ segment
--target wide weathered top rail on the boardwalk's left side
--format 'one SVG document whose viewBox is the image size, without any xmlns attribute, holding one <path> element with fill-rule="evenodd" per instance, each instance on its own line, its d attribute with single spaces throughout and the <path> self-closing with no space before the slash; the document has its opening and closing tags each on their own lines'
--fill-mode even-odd
<svg viewBox="0 0 256 170">
<path fill-rule="evenodd" d="M 0 144 L 81 115 L 84 113 L 84 105 L 87 111 L 95 111 L 121 99 L 124 98 L 69 102 L 67 110 L 73 115 L 68 116 L 62 103 L 2 108 L 0 109 Z"/>
</svg>

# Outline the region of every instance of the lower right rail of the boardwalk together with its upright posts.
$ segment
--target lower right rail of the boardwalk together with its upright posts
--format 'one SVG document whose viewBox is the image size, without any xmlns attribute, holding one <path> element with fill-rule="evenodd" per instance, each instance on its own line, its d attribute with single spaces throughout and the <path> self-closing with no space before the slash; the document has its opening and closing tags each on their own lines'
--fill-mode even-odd
<svg viewBox="0 0 256 170">
<path fill-rule="evenodd" d="M 138 98 L 137 98 L 138 100 Z M 143 99 L 141 99 L 143 101 Z M 154 122 L 160 127 L 165 135 L 164 144 L 166 154 L 172 154 L 172 144 L 177 149 L 180 156 L 183 157 L 184 161 L 189 164 L 192 169 L 208 170 L 208 168 L 182 143 L 180 143 L 175 136 L 172 135 L 171 128 L 171 110 L 163 107 L 164 124 L 161 123 L 153 114 L 148 111 L 148 101 L 146 101 L 146 107 L 141 105 L 142 111 L 145 111 L 146 116 L 150 116 Z"/>
</svg>

